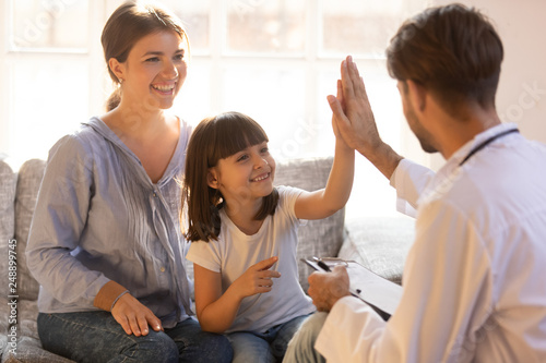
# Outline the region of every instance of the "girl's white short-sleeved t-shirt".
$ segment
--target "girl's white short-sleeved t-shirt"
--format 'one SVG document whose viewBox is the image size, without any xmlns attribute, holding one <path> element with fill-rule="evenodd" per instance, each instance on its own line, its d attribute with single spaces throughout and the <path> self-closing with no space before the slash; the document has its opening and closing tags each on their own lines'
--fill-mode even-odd
<svg viewBox="0 0 546 363">
<path fill-rule="evenodd" d="M 294 205 L 302 192 L 299 189 L 278 186 L 278 205 L 273 216 L 268 216 L 260 230 L 247 235 L 234 225 L 221 209 L 221 232 L 217 241 L 191 243 L 187 258 L 193 263 L 222 274 L 222 291 L 260 261 L 278 256 L 272 270 L 281 273 L 273 280 L 273 289 L 266 293 L 242 300 L 234 324 L 226 330 L 263 332 L 294 317 L 314 311 L 309 297 L 299 285 L 296 247 L 297 229 L 300 221 Z"/>
</svg>

